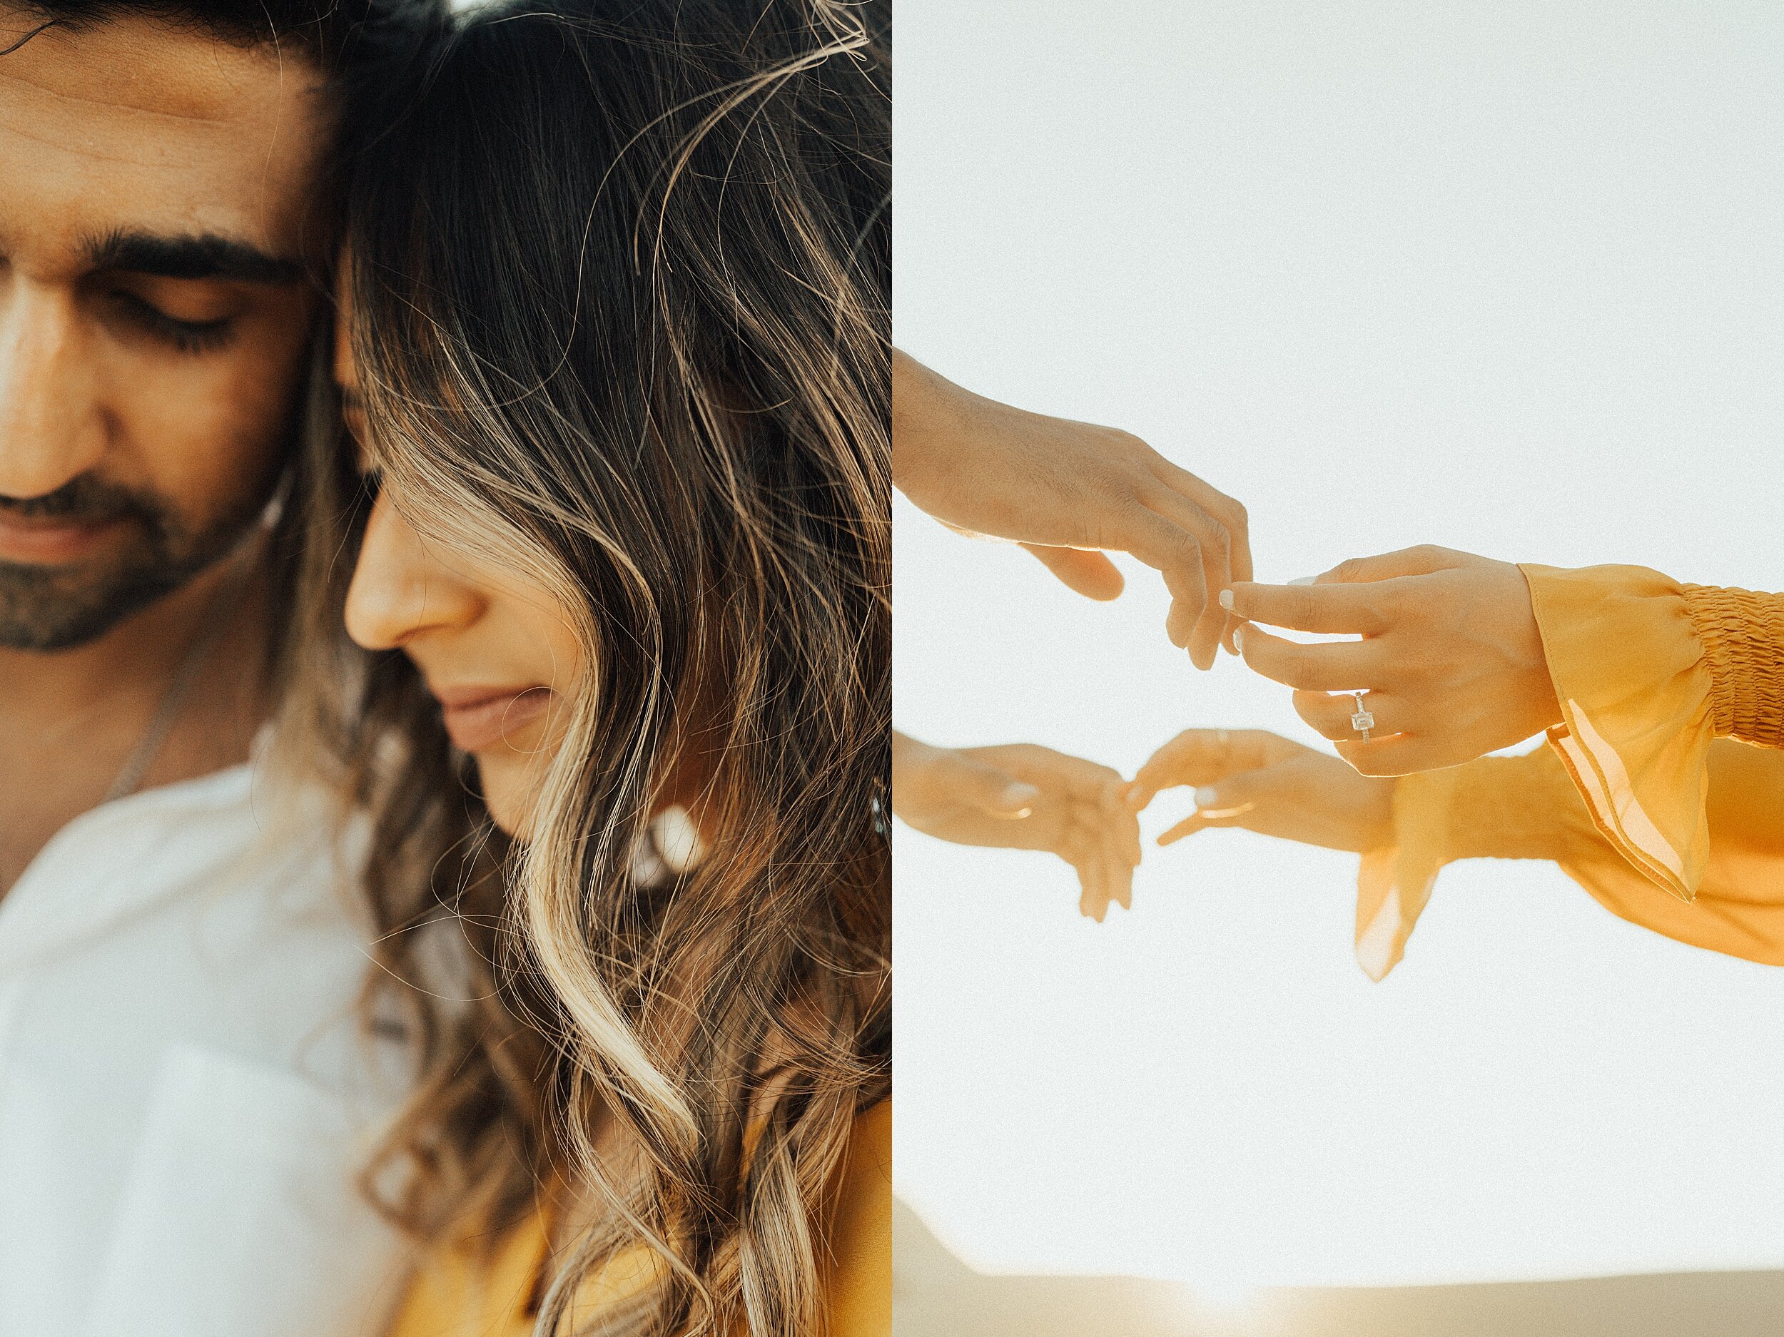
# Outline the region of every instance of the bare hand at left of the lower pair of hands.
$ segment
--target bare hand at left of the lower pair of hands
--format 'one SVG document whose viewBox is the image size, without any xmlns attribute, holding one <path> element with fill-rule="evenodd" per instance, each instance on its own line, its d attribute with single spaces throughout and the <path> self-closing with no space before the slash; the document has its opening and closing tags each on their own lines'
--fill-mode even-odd
<svg viewBox="0 0 1784 1337">
<path fill-rule="evenodd" d="M 1047 850 L 1078 870 L 1078 907 L 1133 904 L 1140 822 L 1119 772 L 1033 743 L 929 747 L 892 734 L 892 811 L 956 845 Z"/>
</svg>

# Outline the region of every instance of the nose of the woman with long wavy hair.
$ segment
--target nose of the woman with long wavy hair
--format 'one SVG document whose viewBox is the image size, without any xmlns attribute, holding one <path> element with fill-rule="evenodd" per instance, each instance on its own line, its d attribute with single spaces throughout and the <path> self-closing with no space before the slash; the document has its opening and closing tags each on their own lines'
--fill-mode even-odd
<svg viewBox="0 0 1784 1337">
<path fill-rule="evenodd" d="M 391 651 L 428 631 L 462 631 L 482 615 L 476 588 L 380 496 L 346 592 L 346 633 L 368 651 Z"/>
</svg>

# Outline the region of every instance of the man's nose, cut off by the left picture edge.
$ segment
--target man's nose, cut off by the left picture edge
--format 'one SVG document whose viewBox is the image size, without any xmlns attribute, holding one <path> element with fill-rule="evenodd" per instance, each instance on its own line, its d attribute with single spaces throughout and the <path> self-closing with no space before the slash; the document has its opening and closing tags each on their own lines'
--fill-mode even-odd
<svg viewBox="0 0 1784 1337">
<path fill-rule="evenodd" d="M 100 462 L 93 357 L 75 294 L 0 282 L 0 496 L 41 497 Z"/>
</svg>

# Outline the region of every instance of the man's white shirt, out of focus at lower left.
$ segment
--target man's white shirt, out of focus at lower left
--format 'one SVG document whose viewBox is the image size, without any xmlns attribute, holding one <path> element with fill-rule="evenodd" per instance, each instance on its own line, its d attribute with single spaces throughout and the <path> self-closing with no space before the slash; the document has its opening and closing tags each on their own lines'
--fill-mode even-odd
<svg viewBox="0 0 1784 1337">
<path fill-rule="evenodd" d="M 264 763 L 70 822 L 0 900 L 0 1333 L 371 1337 L 351 838 Z"/>
</svg>

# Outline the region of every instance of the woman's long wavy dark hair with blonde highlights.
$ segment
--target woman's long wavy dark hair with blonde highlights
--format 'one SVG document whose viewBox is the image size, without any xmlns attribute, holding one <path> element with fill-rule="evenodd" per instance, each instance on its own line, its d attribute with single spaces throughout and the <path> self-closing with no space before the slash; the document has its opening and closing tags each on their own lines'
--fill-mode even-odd
<svg viewBox="0 0 1784 1337">
<path fill-rule="evenodd" d="M 312 440 L 330 686 L 291 710 L 371 815 L 368 1009 L 421 1062 L 368 1182 L 435 1241 L 592 1194 L 546 1333 L 640 1243 L 599 1332 L 821 1332 L 826 1196 L 890 1091 L 888 37 L 840 0 L 501 4 L 353 164 L 368 462 L 585 665 L 510 841 L 409 661 L 339 635 L 368 490 Z M 667 872 L 689 774 L 706 849 Z"/>
</svg>

